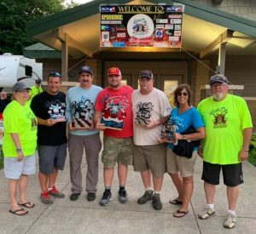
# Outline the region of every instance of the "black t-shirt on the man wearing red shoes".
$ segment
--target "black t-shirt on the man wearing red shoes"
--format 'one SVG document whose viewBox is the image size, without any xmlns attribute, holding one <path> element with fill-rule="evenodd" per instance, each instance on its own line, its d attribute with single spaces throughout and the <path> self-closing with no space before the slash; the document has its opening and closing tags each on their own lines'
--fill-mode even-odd
<svg viewBox="0 0 256 234">
<path fill-rule="evenodd" d="M 62 92 L 51 95 L 44 91 L 33 97 L 31 109 L 37 117 L 42 119 L 61 115 L 65 117 L 66 95 Z M 38 125 L 38 145 L 59 146 L 66 142 L 66 122 L 55 123 L 51 127 Z"/>
</svg>

